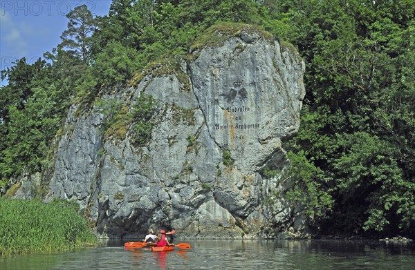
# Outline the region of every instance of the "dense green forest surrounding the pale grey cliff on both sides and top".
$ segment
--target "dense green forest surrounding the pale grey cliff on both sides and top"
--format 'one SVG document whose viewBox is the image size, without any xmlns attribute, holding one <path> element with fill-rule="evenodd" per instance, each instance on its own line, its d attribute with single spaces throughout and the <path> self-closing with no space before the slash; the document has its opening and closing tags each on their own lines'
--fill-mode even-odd
<svg viewBox="0 0 415 270">
<path fill-rule="evenodd" d="M 306 61 L 287 199 L 316 233 L 415 237 L 414 14 L 414 0 L 113 0 L 93 19 L 75 8 L 49 64 L 21 59 L 2 72 L 0 184 L 50 166 L 71 104 L 88 108 L 154 61 L 186 58 L 216 23 L 250 23 Z"/>
</svg>

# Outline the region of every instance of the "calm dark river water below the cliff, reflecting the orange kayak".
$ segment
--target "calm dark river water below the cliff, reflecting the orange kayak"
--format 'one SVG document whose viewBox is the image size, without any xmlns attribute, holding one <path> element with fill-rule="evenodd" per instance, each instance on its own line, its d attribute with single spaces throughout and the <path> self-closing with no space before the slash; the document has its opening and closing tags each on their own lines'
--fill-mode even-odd
<svg viewBox="0 0 415 270">
<path fill-rule="evenodd" d="M 124 242 L 70 253 L 0 256 L 0 269 L 415 269 L 415 244 L 348 240 L 175 240 L 192 248 L 125 250 Z"/>
</svg>

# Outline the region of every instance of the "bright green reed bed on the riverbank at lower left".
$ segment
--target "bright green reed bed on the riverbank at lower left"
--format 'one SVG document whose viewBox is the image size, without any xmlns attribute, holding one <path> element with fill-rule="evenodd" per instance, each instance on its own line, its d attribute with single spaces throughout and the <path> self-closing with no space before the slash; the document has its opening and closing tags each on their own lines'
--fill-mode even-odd
<svg viewBox="0 0 415 270">
<path fill-rule="evenodd" d="M 0 255 L 56 253 L 96 244 L 78 212 L 75 202 L 0 197 Z"/>
</svg>

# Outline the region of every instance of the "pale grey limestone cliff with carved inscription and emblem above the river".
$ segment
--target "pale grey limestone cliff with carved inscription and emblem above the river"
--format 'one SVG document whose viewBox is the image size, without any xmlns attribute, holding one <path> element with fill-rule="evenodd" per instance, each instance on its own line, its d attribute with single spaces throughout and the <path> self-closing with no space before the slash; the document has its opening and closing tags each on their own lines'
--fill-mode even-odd
<svg viewBox="0 0 415 270">
<path fill-rule="evenodd" d="M 124 139 L 104 139 L 102 112 L 75 117 L 74 106 L 47 198 L 77 200 L 103 237 L 141 237 L 149 227 L 190 238 L 266 236 L 264 198 L 278 177 L 261 171 L 287 164 L 283 142 L 299 127 L 304 62 L 248 30 L 194 56 L 180 79 L 147 75 L 103 98 L 158 100 L 146 146 L 133 146 L 131 126 Z"/>
</svg>

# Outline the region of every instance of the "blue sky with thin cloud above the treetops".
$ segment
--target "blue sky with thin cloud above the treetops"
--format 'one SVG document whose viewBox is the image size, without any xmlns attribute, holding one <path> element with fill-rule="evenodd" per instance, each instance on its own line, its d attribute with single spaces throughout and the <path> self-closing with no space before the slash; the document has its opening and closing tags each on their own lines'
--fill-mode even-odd
<svg viewBox="0 0 415 270">
<path fill-rule="evenodd" d="M 111 0 L 0 0 L 0 70 L 26 57 L 33 64 L 61 43 L 66 15 L 86 5 L 94 17 L 108 15 Z M 0 86 L 6 85 L 6 80 Z"/>
</svg>

